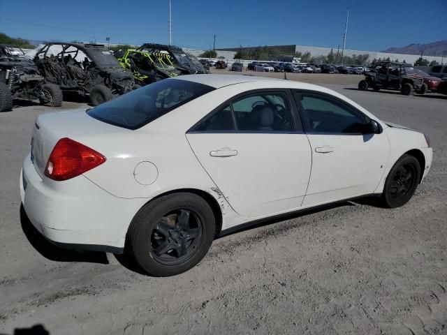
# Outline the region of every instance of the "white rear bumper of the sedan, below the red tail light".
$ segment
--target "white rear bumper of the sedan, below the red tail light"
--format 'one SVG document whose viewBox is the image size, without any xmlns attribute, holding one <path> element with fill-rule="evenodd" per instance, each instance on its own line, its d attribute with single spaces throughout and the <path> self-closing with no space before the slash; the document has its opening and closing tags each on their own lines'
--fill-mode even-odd
<svg viewBox="0 0 447 335">
<path fill-rule="evenodd" d="M 113 253 L 124 250 L 127 228 L 147 201 L 117 198 L 84 176 L 44 183 L 30 156 L 20 173 L 20 196 L 29 221 L 52 243 Z"/>
</svg>

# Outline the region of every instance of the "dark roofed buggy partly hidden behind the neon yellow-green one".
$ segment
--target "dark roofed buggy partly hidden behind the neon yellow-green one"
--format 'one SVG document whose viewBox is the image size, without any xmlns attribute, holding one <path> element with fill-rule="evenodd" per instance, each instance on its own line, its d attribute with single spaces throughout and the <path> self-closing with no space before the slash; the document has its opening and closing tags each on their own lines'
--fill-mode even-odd
<svg viewBox="0 0 447 335">
<path fill-rule="evenodd" d="M 173 61 L 173 65 L 175 66 L 175 68 L 177 68 L 177 70 L 180 71 L 182 75 L 210 73 L 203 67 L 202 64 L 200 64 L 200 61 L 198 61 L 198 59 L 189 58 L 181 47 L 175 47 L 173 45 L 145 43 L 138 47 L 137 50 L 148 52 L 149 54 L 152 54 L 154 52 L 169 54 L 171 60 Z"/>
</svg>

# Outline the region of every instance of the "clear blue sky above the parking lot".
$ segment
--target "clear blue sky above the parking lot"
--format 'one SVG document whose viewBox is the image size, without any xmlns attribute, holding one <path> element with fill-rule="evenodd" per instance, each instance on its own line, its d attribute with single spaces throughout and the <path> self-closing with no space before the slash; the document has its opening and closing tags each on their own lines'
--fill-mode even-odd
<svg viewBox="0 0 447 335">
<path fill-rule="evenodd" d="M 342 45 L 379 51 L 447 39 L 447 0 L 172 0 L 173 44 Z M 168 43 L 168 0 L 0 1 L 0 32 L 31 40 Z"/>
</svg>

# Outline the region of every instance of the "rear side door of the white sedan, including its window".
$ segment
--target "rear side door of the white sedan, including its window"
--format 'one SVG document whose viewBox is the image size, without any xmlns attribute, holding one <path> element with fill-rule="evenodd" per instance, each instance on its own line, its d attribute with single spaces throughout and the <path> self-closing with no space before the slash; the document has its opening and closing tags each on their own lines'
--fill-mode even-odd
<svg viewBox="0 0 447 335">
<path fill-rule="evenodd" d="M 256 91 L 217 107 L 186 138 L 228 203 L 247 217 L 301 206 L 312 165 L 298 112 L 284 91 Z"/>
</svg>

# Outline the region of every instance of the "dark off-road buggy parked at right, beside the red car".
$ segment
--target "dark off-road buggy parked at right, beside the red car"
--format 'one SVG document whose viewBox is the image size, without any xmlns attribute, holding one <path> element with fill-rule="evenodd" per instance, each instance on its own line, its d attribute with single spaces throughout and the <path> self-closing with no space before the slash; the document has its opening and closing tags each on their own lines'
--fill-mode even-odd
<svg viewBox="0 0 447 335">
<path fill-rule="evenodd" d="M 374 91 L 380 89 L 399 89 L 400 93 L 409 96 L 416 91 L 424 94 L 427 84 L 423 78 L 413 76 L 413 66 L 405 63 L 381 61 L 365 73 L 365 80 L 360 80 L 358 89 L 366 91 L 371 87 Z"/>
</svg>

